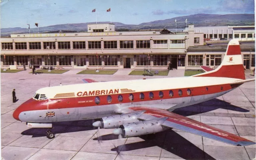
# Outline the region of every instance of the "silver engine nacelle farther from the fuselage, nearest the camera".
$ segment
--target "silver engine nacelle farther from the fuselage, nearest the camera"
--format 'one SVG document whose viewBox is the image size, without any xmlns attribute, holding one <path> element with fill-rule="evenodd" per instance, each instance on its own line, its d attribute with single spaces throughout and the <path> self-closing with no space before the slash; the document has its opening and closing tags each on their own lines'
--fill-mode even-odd
<svg viewBox="0 0 256 160">
<path fill-rule="evenodd" d="M 115 129 L 113 131 L 113 134 L 121 134 L 123 137 L 133 137 L 144 134 L 161 132 L 168 129 L 168 127 L 161 125 L 166 119 L 166 117 L 163 117 L 157 120 L 145 120 L 140 122 L 124 124 L 120 126 L 120 128 Z"/>
</svg>

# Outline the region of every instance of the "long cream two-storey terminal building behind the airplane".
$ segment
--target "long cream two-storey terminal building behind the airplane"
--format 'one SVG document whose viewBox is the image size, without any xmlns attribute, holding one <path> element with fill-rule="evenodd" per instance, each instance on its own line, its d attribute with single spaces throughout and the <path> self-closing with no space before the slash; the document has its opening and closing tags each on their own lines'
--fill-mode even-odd
<svg viewBox="0 0 256 160">
<path fill-rule="evenodd" d="M 204 30 L 193 25 L 176 33 L 165 29 L 116 32 L 114 24 L 90 24 L 84 33 L 11 34 L 1 38 L 1 68 L 31 63 L 64 69 L 167 69 L 170 62 L 176 69 L 214 68 L 220 65 L 227 44 L 204 45 L 205 36 Z M 254 43 L 241 48 L 245 68 L 253 69 Z"/>
</svg>

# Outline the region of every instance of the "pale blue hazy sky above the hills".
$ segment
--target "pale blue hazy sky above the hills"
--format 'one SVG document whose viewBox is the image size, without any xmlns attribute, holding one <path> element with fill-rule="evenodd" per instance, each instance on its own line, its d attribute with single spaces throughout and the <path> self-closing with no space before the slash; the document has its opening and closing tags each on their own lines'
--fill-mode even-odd
<svg viewBox="0 0 256 160">
<path fill-rule="evenodd" d="M 191 14 L 254 14 L 254 0 L 0 0 L 0 28 L 110 21 L 140 24 Z M 96 8 L 96 12 L 92 10 Z M 189 20 L 188 20 L 189 22 Z"/>
</svg>

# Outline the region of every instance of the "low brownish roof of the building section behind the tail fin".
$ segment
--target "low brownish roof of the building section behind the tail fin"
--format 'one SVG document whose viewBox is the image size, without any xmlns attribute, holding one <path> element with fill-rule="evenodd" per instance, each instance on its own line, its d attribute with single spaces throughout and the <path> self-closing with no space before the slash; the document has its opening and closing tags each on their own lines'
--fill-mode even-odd
<svg viewBox="0 0 256 160">
<path fill-rule="evenodd" d="M 203 51 L 220 51 L 225 52 L 228 47 L 228 43 L 212 44 L 212 45 L 201 45 L 188 47 L 188 52 L 203 52 Z M 252 42 L 240 42 L 241 51 L 254 51 L 255 52 L 255 41 Z"/>
</svg>

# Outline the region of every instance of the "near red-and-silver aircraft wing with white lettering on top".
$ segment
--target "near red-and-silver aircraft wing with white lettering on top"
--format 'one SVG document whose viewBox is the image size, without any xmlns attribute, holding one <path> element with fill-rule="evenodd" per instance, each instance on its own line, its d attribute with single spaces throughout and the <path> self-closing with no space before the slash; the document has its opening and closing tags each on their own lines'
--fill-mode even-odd
<svg viewBox="0 0 256 160">
<path fill-rule="evenodd" d="M 129 109 L 126 109 L 126 112 L 128 110 L 146 111 L 139 118 L 142 120 L 150 120 L 150 119 L 167 117 L 167 119 L 162 123 L 163 126 L 176 128 L 178 130 L 183 130 L 185 132 L 190 132 L 193 134 L 204 136 L 206 138 L 232 144 L 235 146 L 248 146 L 248 145 L 255 144 L 255 142 L 252 142 L 240 136 L 231 134 L 224 130 L 214 128 L 207 124 L 189 119 L 187 117 L 184 117 L 166 110 L 155 109 L 150 107 L 130 107 Z"/>
</svg>

